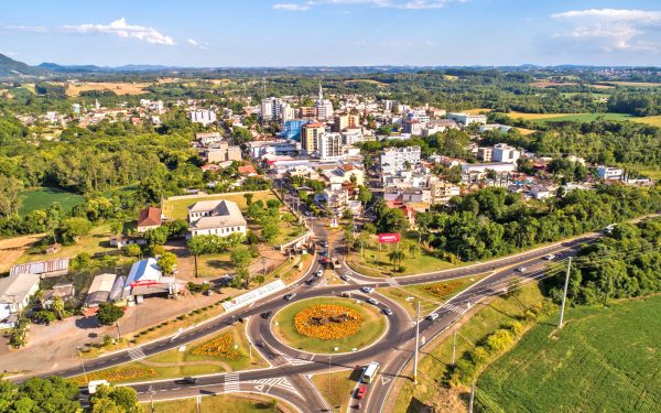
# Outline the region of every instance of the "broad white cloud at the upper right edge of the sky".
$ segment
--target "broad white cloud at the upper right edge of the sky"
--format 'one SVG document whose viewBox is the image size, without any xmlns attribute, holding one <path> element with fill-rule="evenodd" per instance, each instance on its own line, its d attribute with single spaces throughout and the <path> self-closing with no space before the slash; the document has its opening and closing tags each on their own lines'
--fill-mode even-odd
<svg viewBox="0 0 661 413">
<path fill-rule="evenodd" d="M 654 42 L 643 39 L 661 29 L 661 11 L 588 9 L 571 10 L 551 15 L 572 24 L 557 37 L 589 42 L 604 52 L 657 51 Z"/>
</svg>

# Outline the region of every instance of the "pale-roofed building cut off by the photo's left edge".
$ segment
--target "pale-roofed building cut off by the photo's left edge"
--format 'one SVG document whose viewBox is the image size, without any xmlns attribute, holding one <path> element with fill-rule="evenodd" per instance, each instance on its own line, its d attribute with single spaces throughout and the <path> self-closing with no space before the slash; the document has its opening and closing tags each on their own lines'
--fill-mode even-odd
<svg viewBox="0 0 661 413">
<path fill-rule="evenodd" d="M 0 279 L 0 328 L 14 326 L 20 313 L 39 291 L 39 274 L 18 273 Z M 13 317 L 12 317 L 13 315 Z"/>
</svg>

